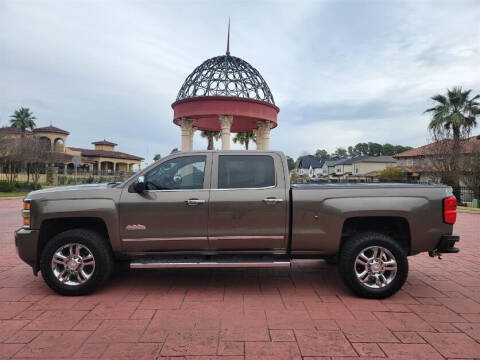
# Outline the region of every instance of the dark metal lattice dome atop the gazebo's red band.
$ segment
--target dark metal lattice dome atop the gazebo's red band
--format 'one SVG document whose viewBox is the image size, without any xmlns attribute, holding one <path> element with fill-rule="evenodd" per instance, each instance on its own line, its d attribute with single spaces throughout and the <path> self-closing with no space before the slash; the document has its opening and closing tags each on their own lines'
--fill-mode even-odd
<svg viewBox="0 0 480 360">
<path fill-rule="evenodd" d="M 216 56 L 198 66 L 185 80 L 177 101 L 199 96 L 227 96 L 275 105 L 262 75 L 248 62 L 230 55 Z"/>
</svg>

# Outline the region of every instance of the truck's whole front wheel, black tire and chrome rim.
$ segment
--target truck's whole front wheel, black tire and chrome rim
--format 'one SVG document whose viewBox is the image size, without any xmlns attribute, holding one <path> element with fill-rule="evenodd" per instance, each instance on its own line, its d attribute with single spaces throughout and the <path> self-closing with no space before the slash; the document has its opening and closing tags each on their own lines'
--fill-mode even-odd
<svg viewBox="0 0 480 360">
<path fill-rule="evenodd" d="M 106 239 L 89 229 L 67 230 L 54 236 L 40 257 L 47 285 L 67 296 L 93 292 L 110 276 L 113 265 Z"/>
</svg>

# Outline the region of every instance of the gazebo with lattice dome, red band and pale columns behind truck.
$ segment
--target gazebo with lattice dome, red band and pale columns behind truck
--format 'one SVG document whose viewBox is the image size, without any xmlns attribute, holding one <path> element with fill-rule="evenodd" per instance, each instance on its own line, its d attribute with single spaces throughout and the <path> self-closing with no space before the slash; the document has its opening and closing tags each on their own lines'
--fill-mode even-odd
<svg viewBox="0 0 480 360">
<path fill-rule="evenodd" d="M 196 130 L 220 131 L 222 149 L 232 132 L 253 131 L 257 149 L 270 147 L 270 129 L 280 109 L 262 75 L 245 60 L 230 55 L 230 24 L 225 55 L 204 61 L 185 80 L 172 104 L 181 128 L 182 151 L 193 150 Z"/>
</svg>

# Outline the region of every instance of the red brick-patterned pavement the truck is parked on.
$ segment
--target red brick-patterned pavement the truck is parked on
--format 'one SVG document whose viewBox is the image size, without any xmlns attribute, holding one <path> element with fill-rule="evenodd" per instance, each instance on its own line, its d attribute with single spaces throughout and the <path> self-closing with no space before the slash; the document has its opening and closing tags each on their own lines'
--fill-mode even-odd
<svg viewBox="0 0 480 360">
<path fill-rule="evenodd" d="M 17 258 L 20 205 L 0 201 L 1 358 L 480 358 L 480 215 L 459 214 L 461 255 L 411 258 L 387 300 L 353 297 L 323 261 L 123 271 L 68 298 Z"/>
</svg>

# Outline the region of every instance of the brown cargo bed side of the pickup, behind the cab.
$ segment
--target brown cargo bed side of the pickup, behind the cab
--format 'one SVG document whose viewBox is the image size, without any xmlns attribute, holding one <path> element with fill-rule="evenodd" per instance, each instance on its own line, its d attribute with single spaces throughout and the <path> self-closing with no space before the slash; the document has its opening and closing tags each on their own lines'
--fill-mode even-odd
<svg viewBox="0 0 480 360">
<path fill-rule="evenodd" d="M 444 185 L 295 184 L 291 196 L 291 249 L 296 254 L 335 254 L 341 236 L 332 234 L 357 226 L 355 222 L 403 232 L 409 254 L 432 250 L 441 235 L 451 232 L 442 221 L 443 199 L 451 196 Z"/>
</svg>

